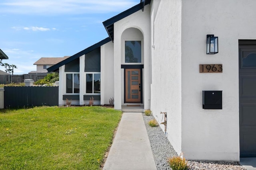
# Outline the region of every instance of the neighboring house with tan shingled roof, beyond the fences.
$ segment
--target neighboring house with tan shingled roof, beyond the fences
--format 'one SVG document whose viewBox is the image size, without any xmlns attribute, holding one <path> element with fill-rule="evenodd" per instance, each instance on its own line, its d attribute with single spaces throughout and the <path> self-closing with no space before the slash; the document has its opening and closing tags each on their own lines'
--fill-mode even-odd
<svg viewBox="0 0 256 170">
<path fill-rule="evenodd" d="M 54 64 L 59 63 L 60 61 L 63 61 L 67 59 L 70 56 L 64 56 L 64 57 L 42 57 L 34 65 L 36 65 L 36 71 L 31 71 L 28 74 L 32 73 L 48 73 L 47 68 L 50 66 L 53 66 Z"/>
</svg>

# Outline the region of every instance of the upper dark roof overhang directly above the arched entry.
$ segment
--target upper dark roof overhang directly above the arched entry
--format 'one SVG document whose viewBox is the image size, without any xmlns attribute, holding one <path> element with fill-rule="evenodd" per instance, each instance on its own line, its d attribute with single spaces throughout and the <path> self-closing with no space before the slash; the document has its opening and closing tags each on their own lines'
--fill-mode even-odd
<svg viewBox="0 0 256 170">
<path fill-rule="evenodd" d="M 114 23 L 122 20 L 123 18 L 139 11 L 139 10 L 144 10 L 144 6 L 147 4 L 150 4 L 151 0 L 140 0 L 140 4 L 137 4 L 136 6 L 133 6 L 132 8 L 121 12 L 120 14 L 106 20 L 103 22 L 103 25 L 108 32 L 109 37 L 111 38 L 112 41 L 114 41 Z"/>
</svg>

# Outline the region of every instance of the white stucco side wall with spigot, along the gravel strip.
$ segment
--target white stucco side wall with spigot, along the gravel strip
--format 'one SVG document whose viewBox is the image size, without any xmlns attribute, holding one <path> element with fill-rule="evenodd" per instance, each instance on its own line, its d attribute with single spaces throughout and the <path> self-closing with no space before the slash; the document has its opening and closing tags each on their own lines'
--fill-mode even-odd
<svg viewBox="0 0 256 170">
<path fill-rule="evenodd" d="M 162 0 L 154 16 L 155 20 L 151 20 L 154 22 L 154 28 L 151 27 L 151 31 L 154 32 L 151 110 L 159 123 L 164 121 L 164 115 L 160 112 L 167 112 L 167 137 L 180 154 L 182 129 L 181 2 Z M 164 129 L 163 125 L 161 127 Z"/>
</svg>

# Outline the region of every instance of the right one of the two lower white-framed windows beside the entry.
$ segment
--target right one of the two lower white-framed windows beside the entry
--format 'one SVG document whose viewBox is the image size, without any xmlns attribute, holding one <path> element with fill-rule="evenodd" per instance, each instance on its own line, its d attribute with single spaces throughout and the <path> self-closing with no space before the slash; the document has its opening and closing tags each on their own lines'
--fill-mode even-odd
<svg viewBox="0 0 256 170">
<path fill-rule="evenodd" d="M 100 93 L 100 73 L 86 74 L 86 93 Z"/>
</svg>

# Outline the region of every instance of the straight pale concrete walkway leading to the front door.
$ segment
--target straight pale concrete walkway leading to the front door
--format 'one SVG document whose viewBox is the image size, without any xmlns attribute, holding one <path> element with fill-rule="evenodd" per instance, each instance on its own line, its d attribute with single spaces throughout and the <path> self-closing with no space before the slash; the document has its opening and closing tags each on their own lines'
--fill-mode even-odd
<svg viewBox="0 0 256 170">
<path fill-rule="evenodd" d="M 123 113 L 103 170 L 156 170 L 141 113 Z"/>
</svg>

